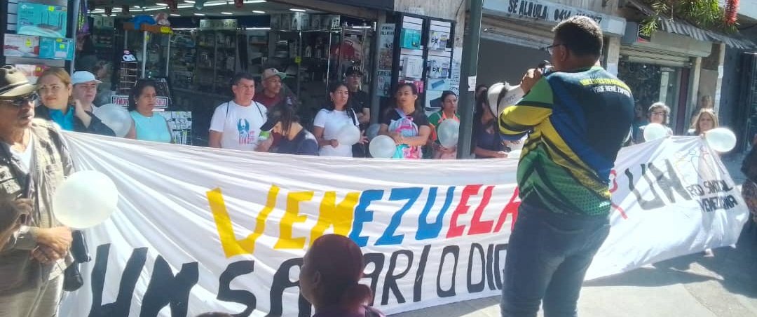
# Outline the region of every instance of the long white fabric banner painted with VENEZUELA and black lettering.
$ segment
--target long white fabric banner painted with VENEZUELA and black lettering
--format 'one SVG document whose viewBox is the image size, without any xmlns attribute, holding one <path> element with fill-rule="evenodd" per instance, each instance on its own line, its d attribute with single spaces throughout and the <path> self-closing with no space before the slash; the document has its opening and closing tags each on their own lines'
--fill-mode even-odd
<svg viewBox="0 0 757 317">
<path fill-rule="evenodd" d="M 67 133 L 118 210 L 86 230 L 92 261 L 64 316 L 310 316 L 298 275 L 324 233 L 363 249 L 385 313 L 500 294 L 517 160 L 367 160 L 223 151 Z M 746 205 L 701 138 L 621 151 L 612 231 L 587 278 L 733 245 Z"/>
</svg>

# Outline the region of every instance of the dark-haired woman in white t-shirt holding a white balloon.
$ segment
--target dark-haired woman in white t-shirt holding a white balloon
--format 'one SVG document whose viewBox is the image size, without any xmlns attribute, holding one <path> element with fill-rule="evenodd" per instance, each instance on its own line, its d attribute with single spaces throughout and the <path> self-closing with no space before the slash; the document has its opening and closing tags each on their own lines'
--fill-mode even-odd
<svg viewBox="0 0 757 317">
<path fill-rule="evenodd" d="M 358 126 L 357 115 L 347 102 L 350 91 L 347 85 L 338 82 L 329 86 L 330 102 L 316 114 L 313 120 L 313 135 L 318 139 L 319 155 L 322 157 L 352 157 L 352 145 L 340 145 L 336 140 L 345 124 Z"/>
</svg>

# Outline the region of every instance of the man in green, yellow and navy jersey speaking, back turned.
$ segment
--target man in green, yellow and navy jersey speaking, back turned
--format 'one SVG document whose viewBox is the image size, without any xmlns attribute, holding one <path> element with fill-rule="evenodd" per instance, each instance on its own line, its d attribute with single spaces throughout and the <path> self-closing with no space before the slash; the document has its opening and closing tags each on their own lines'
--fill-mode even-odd
<svg viewBox="0 0 757 317">
<path fill-rule="evenodd" d="M 502 104 L 506 98 L 497 97 L 494 103 L 505 138 L 528 134 L 503 316 L 536 316 L 542 300 L 545 317 L 577 315 L 584 275 L 609 234 L 609 173 L 634 119 L 628 85 L 600 67 L 600 26 L 577 16 L 553 32 L 544 48 L 552 67 L 525 73 L 519 101 Z"/>
</svg>

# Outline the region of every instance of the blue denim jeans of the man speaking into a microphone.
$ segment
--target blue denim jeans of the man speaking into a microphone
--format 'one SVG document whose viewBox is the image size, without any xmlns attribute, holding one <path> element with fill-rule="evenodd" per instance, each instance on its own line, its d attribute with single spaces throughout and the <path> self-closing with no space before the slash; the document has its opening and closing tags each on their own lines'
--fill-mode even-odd
<svg viewBox="0 0 757 317">
<path fill-rule="evenodd" d="M 594 254 L 609 235 L 608 216 L 572 216 L 522 204 L 507 248 L 503 317 L 576 316 Z"/>
</svg>

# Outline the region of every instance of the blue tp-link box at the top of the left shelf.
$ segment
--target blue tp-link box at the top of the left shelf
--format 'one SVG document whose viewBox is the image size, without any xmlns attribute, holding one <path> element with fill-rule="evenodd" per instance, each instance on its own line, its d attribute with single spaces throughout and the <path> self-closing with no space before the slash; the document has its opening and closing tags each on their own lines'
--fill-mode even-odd
<svg viewBox="0 0 757 317">
<path fill-rule="evenodd" d="M 28 36 L 65 37 L 68 8 L 60 5 L 19 2 L 17 33 Z"/>
</svg>

